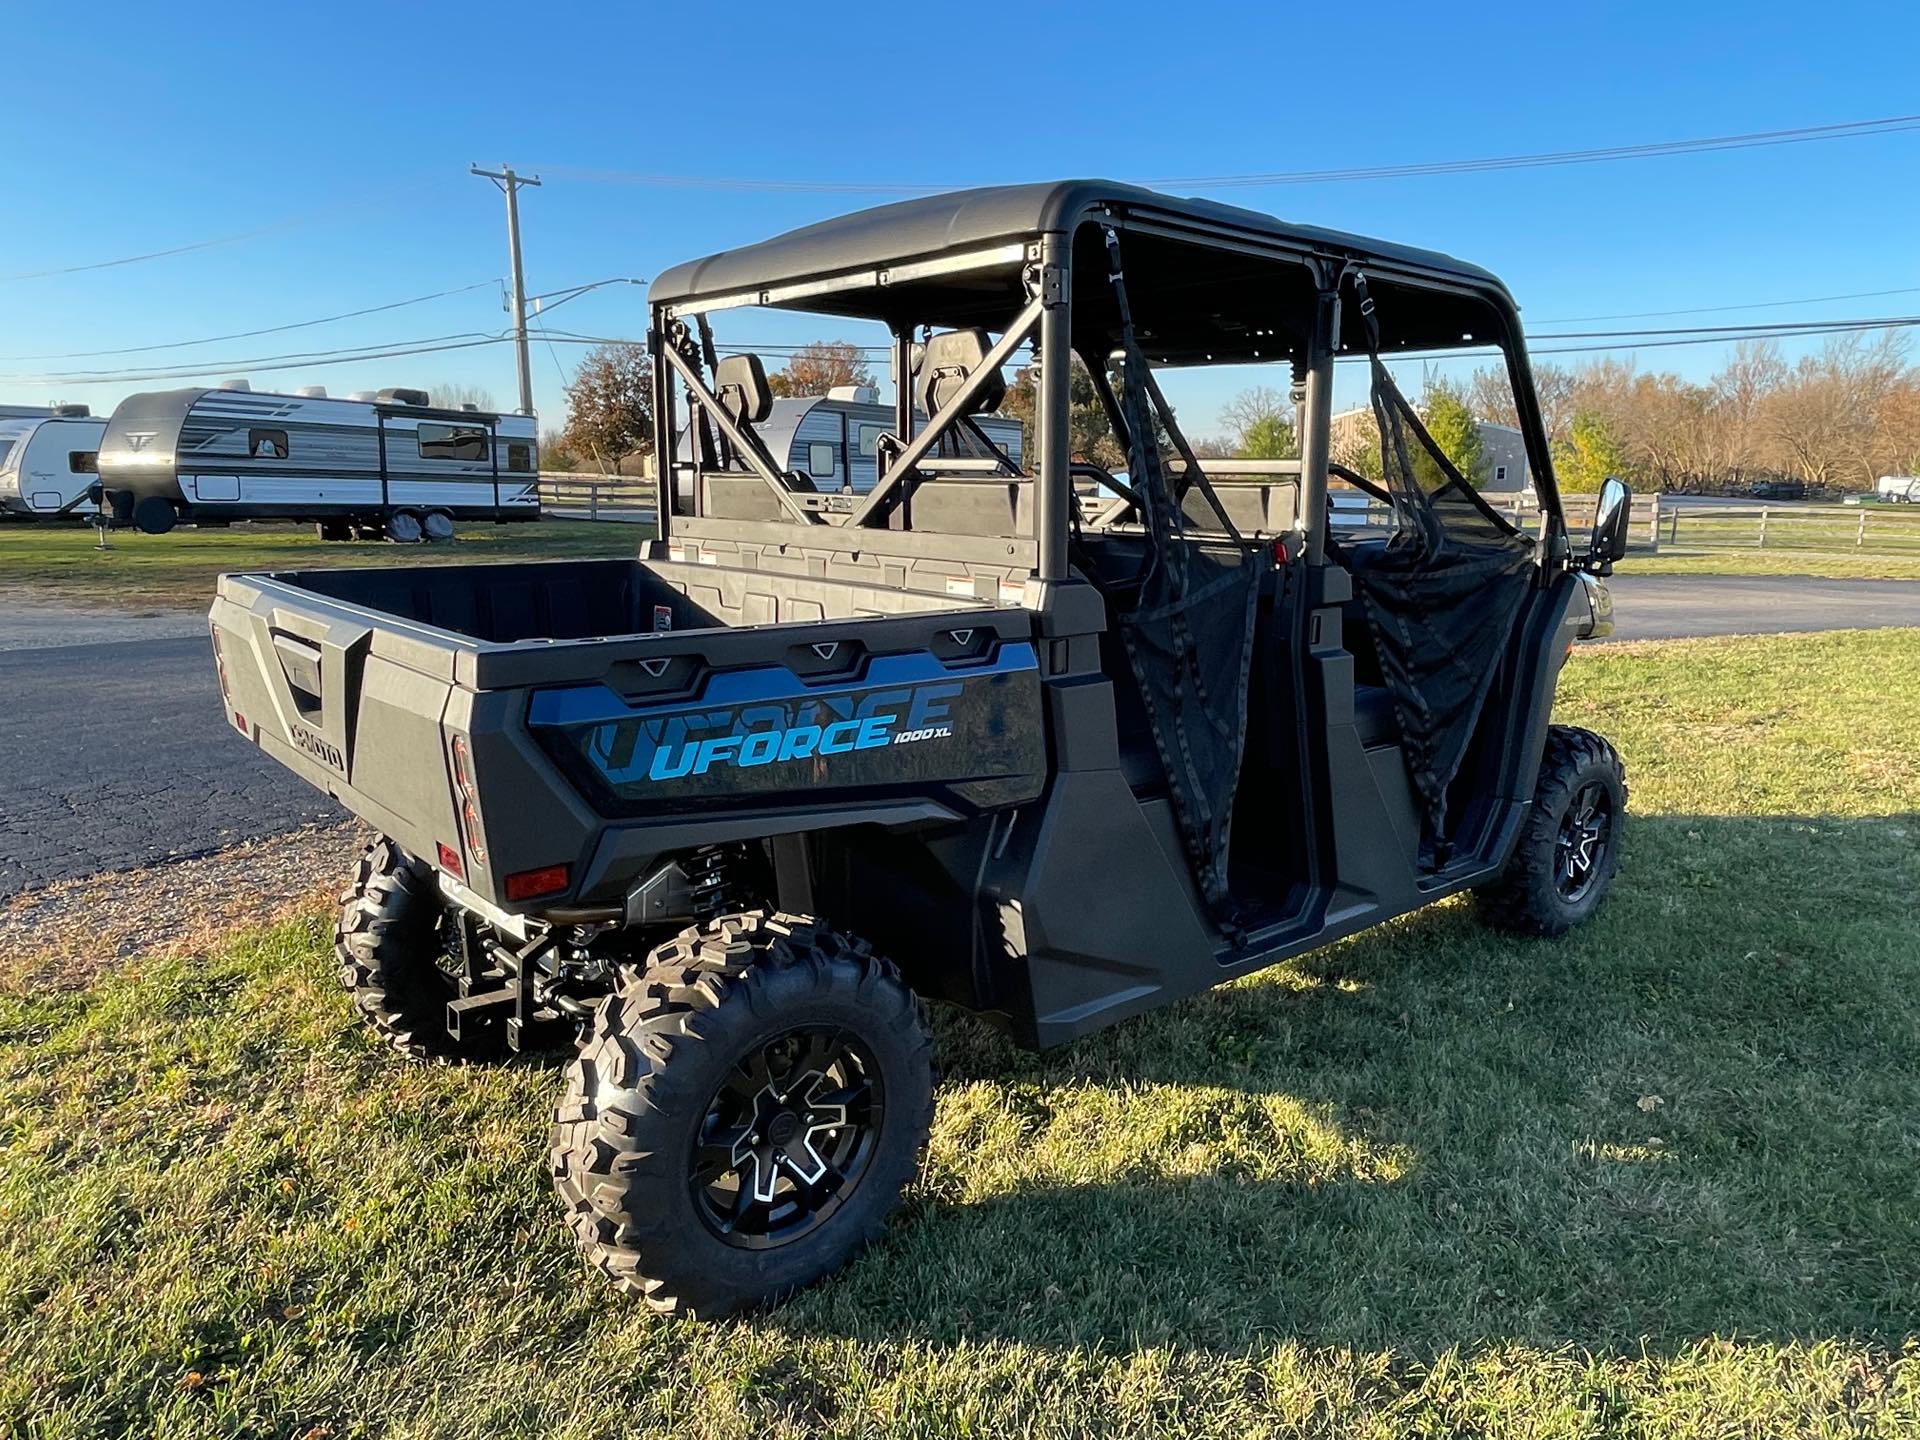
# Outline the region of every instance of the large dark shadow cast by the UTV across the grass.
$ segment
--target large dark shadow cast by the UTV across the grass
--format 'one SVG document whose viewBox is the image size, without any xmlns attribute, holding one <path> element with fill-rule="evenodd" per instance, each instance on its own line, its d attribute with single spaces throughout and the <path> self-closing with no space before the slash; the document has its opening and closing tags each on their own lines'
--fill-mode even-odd
<svg viewBox="0 0 1920 1440">
<path fill-rule="evenodd" d="M 1046 1056 L 950 1021 L 920 1198 L 776 1323 L 1428 1356 L 1899 1344 L 1920 1325 L 1916 891 L 1916 816 L 1636 818 L 1619 889 L 1559 941 L 1448 904 Z"/>
</svg>

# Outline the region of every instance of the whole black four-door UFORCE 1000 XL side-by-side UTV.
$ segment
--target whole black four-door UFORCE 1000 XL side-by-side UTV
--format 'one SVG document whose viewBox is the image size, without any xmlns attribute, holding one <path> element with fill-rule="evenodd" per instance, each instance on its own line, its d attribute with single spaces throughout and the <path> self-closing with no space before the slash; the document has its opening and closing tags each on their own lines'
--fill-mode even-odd
<svg viewBox="0 0 1920 1440">
<path fill-rule="evenodd" d="M 653 284 L 636 561 L 225 576 L 230 724 L 380 839 L 342 979 L 401 1052 L 576 1043 L 553 1177 L 620 1288 L 720 1315 L 872 1238 L 933 1106 L 924 998 L 1073 1041 L 1457 891 L 1555 935 L 1613 749 L 1549 724 L 1626 492 L 1569 538 L 1486 271 L 1069 180 L 912 200 Z M 877 482 L 816 488 L 714 317 L 879 321 Z M 1386 361 L 1498 348 L 1523 534 Z M 1380 465 L 1329 459 L 1367 357 Z M 1035 367 L 1020 461 L 977 417 Z M 1200 461 L 1160 374 L 1283 367 L 1296 461 Z M 1085 378 L 1127 463 L 1073 453 Z M 682 444 L 682 438 L 685 442 Z M 1348 528 L 1329 486 L 1388 524 Z"/>
</svg>

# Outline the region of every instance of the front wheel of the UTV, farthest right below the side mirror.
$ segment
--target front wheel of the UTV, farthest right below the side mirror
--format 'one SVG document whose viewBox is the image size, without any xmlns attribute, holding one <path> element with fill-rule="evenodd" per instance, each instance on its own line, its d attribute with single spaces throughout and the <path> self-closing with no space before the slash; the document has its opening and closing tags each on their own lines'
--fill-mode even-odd
<svg viewBox="0 0 1920 1440">
<path fill-rule="evenodd" d="M 1480 914 L 1523 935 L 1565 935 L 1599 906 L 1620 862 L 1626 766 L 1592 730 L 1553 726 L 1534 804 Z"/>
</svg>

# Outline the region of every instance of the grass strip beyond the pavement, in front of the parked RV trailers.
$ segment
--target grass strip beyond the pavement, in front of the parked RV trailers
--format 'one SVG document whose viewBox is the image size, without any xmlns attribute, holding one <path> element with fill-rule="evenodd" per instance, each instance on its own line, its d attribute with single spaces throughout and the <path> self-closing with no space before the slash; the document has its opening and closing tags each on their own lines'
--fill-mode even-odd
<svg viewBox="0 0 1920 1440">
<path fill-rule="evenodd" d="M 0 524 L 0 597 L 58 605 L 204 611 L 223 570 L 296 570 L 323 564 L 459 564 L 632 555 L 651 534 L 637 524 L 534 520 L 467 524 L 453 545 L 321 541 L 313 526 L 232 526 L 142 536 L 115 530 L 94 549 L 88 526 Z"/>
</svg>

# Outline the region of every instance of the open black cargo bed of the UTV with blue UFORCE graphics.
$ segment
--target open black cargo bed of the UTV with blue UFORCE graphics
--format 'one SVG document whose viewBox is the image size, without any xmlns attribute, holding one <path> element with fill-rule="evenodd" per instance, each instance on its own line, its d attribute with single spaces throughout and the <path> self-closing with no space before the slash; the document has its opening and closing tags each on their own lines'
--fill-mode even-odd
<svg viewBox="0 0 1920 1440">
<path fill-rule="evenodd" d="M 561 899 L 624 906 L 693 812 L 770 835 L 1037 795 L 1031 614 L 960 588 L 672 555 L 307 570 L 223 576 L 211 624 L 228 720 L 409 852 L 492 904 L 563 864 Z"/>
</svg>

